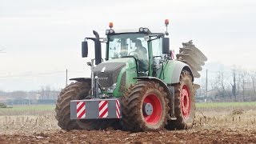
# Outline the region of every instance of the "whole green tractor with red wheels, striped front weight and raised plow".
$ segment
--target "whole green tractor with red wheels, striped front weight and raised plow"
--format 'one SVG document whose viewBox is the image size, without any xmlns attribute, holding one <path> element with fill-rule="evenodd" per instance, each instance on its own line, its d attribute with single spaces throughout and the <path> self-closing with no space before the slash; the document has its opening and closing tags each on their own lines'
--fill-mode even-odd
<svg viewBox="0 0 256 144">
<path fill-rule="evenodd" d="M 95 38 L 85 38 L 83 58 L 88 54 L 87 41 L 94 41 L 95 58 L 87 62 L 91 77 L 72 78 L 75 82 L 61 91 L 55 108 L 58 126 L 63 130 L 113 126 L 130 131 L 192 127 L 198 88 L 194 74 L 200 77 L 198 70 L 206 58 L 187 42 L 175 60 L 166 38 L 168 20 L 165 24 L 164 33 L 152 33 L 146 27 L 118 32 L 110 22 L 106 38 L 96 31 Z M 105 62 L 102 42 L 106 43 Z M 190 54 L 196 55 L 193 62 Z"/>
</svg>

